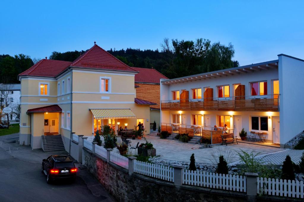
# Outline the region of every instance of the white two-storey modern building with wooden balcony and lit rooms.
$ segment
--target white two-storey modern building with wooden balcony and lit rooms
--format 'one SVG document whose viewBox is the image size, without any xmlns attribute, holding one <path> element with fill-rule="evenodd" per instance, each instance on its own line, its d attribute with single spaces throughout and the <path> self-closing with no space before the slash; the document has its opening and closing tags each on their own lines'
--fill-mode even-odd
<svg viewBox="0 0 304 202">
<path fill-rule="evenodd" d="M 162 79 L 162 130 L 204 136 L 227 124 L 236 136 L 244 128 L 248 136 L 263 133 L 266 142 L 284 147 L 304 130 L 303 78 L 304 60 L 280 54 L 273 61 Z M 221 143 L 220 136 L 212 138 Z"/>
</svg>

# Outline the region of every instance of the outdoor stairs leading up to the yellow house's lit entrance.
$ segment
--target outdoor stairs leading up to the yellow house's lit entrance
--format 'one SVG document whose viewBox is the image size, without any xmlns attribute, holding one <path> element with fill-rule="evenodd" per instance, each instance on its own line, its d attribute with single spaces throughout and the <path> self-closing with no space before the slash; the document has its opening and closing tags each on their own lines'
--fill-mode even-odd
<svg viewBox="0 0 304 202">
<path fill-rule="evenodd" d="M 41 135 L 43 151 L 64 150 L 61 135 Z"/>
</svg>

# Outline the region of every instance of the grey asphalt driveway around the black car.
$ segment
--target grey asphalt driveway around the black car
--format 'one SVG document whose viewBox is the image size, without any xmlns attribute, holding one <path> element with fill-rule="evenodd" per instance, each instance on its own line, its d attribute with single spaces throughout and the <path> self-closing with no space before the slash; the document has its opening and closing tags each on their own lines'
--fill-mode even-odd
<svg viewBox="0 0 304 202">
<path fill-rule="evenodd" d="M 50 154 L 12 143 L 18 134 L 0 137 L 0 201 L 114 201 L 113 197 L 88 171 L 78 169 L 75 183 L 47 184 L 41 161 Z M 80 164 L 76 164 L 80 166 Z"/>
</svg>

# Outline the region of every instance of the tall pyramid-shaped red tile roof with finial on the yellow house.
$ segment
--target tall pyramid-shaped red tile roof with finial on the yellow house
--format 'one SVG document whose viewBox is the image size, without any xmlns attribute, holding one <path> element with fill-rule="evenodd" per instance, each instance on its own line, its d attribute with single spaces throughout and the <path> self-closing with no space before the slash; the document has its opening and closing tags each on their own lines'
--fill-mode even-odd
<svg viewBox="0 0 304 202">
<path fill-rule="evenodd" d="M 88 67 L 119 71 L 135 71 L 98 45 L 94 45 L 70 65 L 73 67 Z"/>
</svg>

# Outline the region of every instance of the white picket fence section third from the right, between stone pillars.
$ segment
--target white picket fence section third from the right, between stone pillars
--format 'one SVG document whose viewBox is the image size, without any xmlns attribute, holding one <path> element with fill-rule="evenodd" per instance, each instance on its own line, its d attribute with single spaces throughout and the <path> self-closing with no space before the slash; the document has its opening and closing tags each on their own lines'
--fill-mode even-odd
<svg viewBox="0 0 304 202">
<path fill-rule="evenodd" d="M 150 164 L 142 161 L 133 161 L 133 172 L 155 177 L 161 180 L 174 182 L 174 168 Z"/>
</svg>

